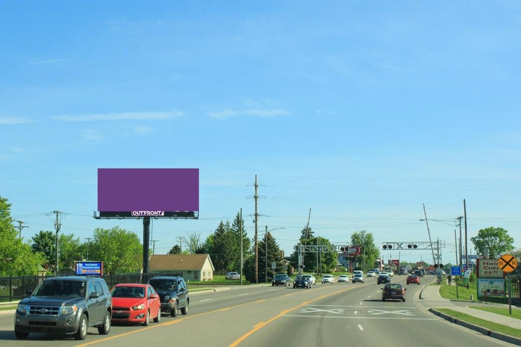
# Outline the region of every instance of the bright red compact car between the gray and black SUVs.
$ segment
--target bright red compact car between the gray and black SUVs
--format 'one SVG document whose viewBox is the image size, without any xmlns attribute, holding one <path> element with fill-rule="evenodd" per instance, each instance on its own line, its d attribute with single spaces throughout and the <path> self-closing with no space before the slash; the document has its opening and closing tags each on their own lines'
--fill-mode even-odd
<svg viewBox="0 0 521 347">
<path fill-rule="evenodd" d="M 161 303 L 150 285 L 124 283 L 114 286 L 112 294 L 112 322 L 148 325 L 151 318 L 159 323 Z"/>
</svg>

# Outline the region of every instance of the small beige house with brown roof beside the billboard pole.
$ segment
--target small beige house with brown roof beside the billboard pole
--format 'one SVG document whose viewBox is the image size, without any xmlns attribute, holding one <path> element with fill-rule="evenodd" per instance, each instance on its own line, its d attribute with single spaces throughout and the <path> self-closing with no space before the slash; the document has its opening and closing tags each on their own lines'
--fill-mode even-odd
<svg viewBox="0 0 521 347">
<path fill-rule="evenodd" d="M 191 281 L 214 279 L 214 264 L 209 254 L 153 254 L 148 263 L 150 272 L 179 271 Z"/>
</svg>

